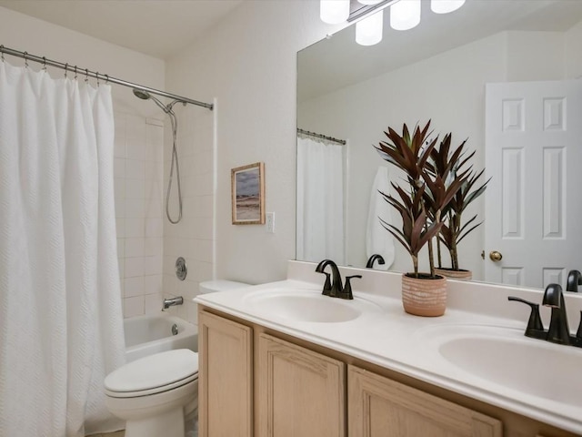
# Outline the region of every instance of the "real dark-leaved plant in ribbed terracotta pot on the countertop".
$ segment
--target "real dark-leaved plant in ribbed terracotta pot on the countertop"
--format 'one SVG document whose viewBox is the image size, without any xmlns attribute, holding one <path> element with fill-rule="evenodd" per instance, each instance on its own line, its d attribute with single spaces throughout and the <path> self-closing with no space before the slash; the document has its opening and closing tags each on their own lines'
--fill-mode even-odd
<svg viewBox="0 0 582 437">
<path fill-rule="evenodd" d="M 466 173 L 435 171 L 429 162 L 437 146 L 437 138 L 428 140 L 430 121 L 425 127 L 416 127 L 410 135 L 404 124 L 402 135 L 388 127 L 388 141 L 376 147 L 380 156 L 400 168 L 406 175 L 406 187 L 395 183 L 396 196 L 380 193 L 400 214 L 402 227 L 381 219 L 384 228 L 404 246 L 410 254 L 414 271 L 402 276 L 402 300 L 406 312 L 422 316 L 440 316 L 447 306 L 447 280 L 437 275 L 432 240 L 443 226 L 443 212 L 448 202 L 457 194 L 465 181 Z M 430 272 L 418 271 L 418 253 L 428 246 Z"/>
</svg>

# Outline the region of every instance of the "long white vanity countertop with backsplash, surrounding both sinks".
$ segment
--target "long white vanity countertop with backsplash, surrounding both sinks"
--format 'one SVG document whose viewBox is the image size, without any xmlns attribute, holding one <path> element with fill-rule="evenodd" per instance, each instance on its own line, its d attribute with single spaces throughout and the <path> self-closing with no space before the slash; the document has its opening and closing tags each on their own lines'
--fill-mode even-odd
<svg viewBox="0 0 582 437">
<path fill-rule="evenodd" d="M 503 366 L 507 361 L 507 356 L 503 354 L 493 359 L 494 363 L 498 362 L 499 368 L 495 364 L 491 365 L 492 371 L 500 375 L 497 379 L 478 376 L 474 371 L 447 361 L 439 353 L 443 339 L 454 339 L 458 333 L 467 337 L 471 335 L 471 330 L 475 330 L 477 336 L 486 332 L 487 337 L 503 336 L 503 340 L 518 341 L 520 344 L 525 342 L 528 350 L 539 348 L 560 356 L 566 353 L 568 362 L 579 363 L 577 375 L 581 375 L 582 349 L 528 339 L 523 335 L 529 307 L 508 302 L 507 296 L 541 303 L 543 293 L 540 290 L 449 281 L 446 314 L 438 318 L 422 318 L 406 314 L 402 309 L 400 275 L 369 269 L 341 268 L 342 276 L 355 273 L 364 275 L 359 281 L 353 280 L 353 304 L 364 304 L 363 308 L 366 309 L 356 319 L 342 322 L 298 321 L 277 316 L 275 312 L 266 311 L 254 303 L 253 296 L 267 292 L 275 295 L 299 290 L 320 294 L 325 278 L 314 273 L 314 268 L 315 264 L 312 263 L 290 261 L 289 279 L 246 289 L 203 294 L 196 297 L 195 301 L 298 339 L 582 434 L 582 391 L 578 390 L 582 387 L 582 377 L 577 376 L 577 381 L 572 381 L 573 386 L 566 388 L 572 392 L 566 393 L 563 387 L 552 385 L 552 375 L 561 371 L 560 361 L 552 363 L 552 368 L 544 369 L 543 372 L 534 370 L 536 374 L 532 375 L 527 375 L 527 371 L 533 368 L 524 369 L 524 374 L 529 378 L 548 379 L 547 391 L 544 396 L 538 396 L 527 392 L 527 381 L 524 383 L 525 390 L 517 390 L 514 384 L 503 381 Z M 352 301 L 344 302 L 349 305 Z M 576 331 L 579 311 L 582 310 L 582 296 L 567 296 L 567 308 L 570 330 Z M 541 307 L 540 312 L 547 328 L 549 311 Z"/>
</svg>

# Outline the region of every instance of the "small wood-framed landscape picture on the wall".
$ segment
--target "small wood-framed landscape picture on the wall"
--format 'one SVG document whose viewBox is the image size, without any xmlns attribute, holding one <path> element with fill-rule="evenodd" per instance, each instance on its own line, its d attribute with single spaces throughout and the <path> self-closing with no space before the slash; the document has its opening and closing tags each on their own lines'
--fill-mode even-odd
<svg viewBox="0 0 582 437">
<path fill-rule="evenodd" d="M 264 175 L 262 162 L 230 170 L 233 225 L 265 224 Z"/>
</svg>

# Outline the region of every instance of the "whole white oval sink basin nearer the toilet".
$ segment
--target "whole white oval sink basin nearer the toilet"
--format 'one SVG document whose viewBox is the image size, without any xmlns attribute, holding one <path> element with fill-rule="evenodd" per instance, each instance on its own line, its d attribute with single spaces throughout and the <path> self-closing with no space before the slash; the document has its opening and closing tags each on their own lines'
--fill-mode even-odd
<svg viewBox="0 0 582 437">
<path fill-rule="evenodd" d="M 366 311 L 380 310 L 370 300 L 341 300 L 314 290 L 262 290 L 246 301 L 255 310 L 281 319 L 320 323 L 354 320 Z"/>
</svg>

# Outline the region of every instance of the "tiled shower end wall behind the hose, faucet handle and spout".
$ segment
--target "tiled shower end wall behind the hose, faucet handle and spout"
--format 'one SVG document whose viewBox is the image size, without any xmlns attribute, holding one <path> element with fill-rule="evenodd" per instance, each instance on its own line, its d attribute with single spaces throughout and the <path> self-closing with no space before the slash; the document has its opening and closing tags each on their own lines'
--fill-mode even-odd
<svg viewBox="0 0 582 437">
<path fill-rule="evenodd" d="M 164 280 L 166 298 L 182 296 L 184 305 L 170 312 L 196 323 L 198 284 L 213 279 L 215 268 L 214 197 L 215 145 L 214 112 L 202 107 L 176 105 L 178 116 L 177 149 L 182 181 L 183 218 L 176 224 L 164 219 Z M 166 122 L 164 147 L 164 187 L 167 187 L 172 158 L 172 133 Z M 177 217 L 176 174 L 172 188 L 170 213 Z M 166 212 L 164 212 L 166 217 Z M 176 278 L 177 257 L 186 259 L 188 274 L 184 281 Z"/>
</svg>

